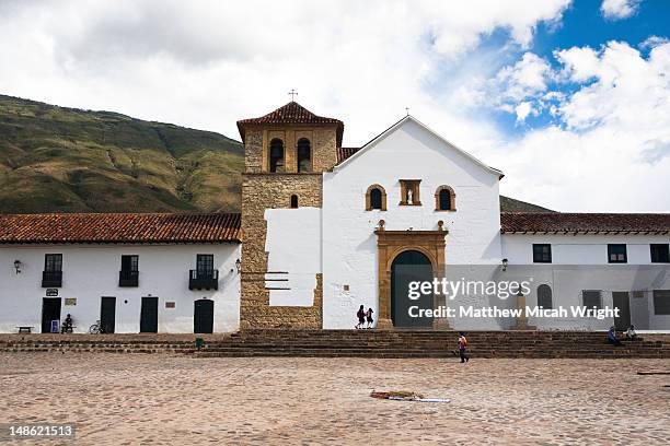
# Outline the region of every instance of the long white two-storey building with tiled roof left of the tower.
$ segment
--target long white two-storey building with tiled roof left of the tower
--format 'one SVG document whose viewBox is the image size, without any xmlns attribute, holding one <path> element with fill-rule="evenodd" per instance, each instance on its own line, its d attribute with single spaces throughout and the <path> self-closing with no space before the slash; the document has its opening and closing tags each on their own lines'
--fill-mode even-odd
<svg viewBox="0 0 670 446">
<path fill-rule="evenodd" d="M 239 215 L 0 215 L 0 331 L 234 331 Z"/>
</svg>

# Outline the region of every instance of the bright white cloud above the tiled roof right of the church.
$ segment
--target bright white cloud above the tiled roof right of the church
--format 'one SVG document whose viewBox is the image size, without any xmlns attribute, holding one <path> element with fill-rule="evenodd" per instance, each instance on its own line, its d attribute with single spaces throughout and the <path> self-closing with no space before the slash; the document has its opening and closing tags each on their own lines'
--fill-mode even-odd
<svg viewBox="0 0 670 446">
<path fill-rule="evenodd" d="M 670 43 L 647 58 L 617 42 L 556 57 L 566 81 L 578 83 L 558 96 L 565 127 L 531 131 L 492 153 L 507 174 L 503 190 L 564 211 L 668 212 Z M 527 110 L 517 109 L 518 119 Z"/>
</svg>

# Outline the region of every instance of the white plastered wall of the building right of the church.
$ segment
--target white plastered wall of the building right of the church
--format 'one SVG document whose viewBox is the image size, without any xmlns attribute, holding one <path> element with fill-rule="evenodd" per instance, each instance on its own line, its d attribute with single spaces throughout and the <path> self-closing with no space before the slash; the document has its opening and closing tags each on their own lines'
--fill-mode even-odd
<svg viewBox="0 0 670 446">
<path fill-rule="evenodd" d="M 669 330 L 670 315 L 656 315 L 654 290 L 670 289 L 670 265 L 651 263 L 650 244 L 667 244 L 659 235 L 503 235 L 503 256 L 510 274 L 533 278 L 528 305 L 538 304 L 538 286 L 552 289 L 554 307 L 582 305 L 584 290 L 600 291 L 603 306 L 613 307 L 614 292 L 629 292 L 631 321 L 642 330 Z M 533 263 L 533 244 L 552 245 L 552 263 Z M 627 263 L 608 262 L 608 244 L 625 244 Z M 635 292 L 635 293 L 634 293 Z M 530 318 L 540 329 L 605 330 L 613 318 Z"/>
</svg>

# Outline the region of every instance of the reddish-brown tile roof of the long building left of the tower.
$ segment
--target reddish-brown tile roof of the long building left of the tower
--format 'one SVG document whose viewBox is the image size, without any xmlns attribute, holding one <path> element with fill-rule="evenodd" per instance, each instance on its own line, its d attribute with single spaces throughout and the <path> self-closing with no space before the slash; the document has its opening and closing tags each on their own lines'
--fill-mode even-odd
<svg viewBox="0 0 670 446">
<path fill-rule="evenodd" d="M 240 214 L 0 214 L 0 244 L 240 242 Z"/>
</svg>

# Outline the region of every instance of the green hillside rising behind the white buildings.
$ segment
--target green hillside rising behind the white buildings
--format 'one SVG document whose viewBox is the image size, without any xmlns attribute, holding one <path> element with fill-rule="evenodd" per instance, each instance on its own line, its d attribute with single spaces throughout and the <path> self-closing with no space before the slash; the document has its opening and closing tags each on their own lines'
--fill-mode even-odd
<svg viewBox="0 0 670 446">
<path fill-rule="evenodd" d="M 243 155 L 210 131 L 0 95 L 0 213 L 239 212 Z"/>
</svg>

